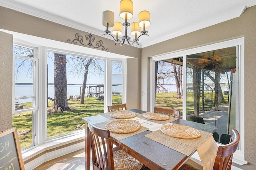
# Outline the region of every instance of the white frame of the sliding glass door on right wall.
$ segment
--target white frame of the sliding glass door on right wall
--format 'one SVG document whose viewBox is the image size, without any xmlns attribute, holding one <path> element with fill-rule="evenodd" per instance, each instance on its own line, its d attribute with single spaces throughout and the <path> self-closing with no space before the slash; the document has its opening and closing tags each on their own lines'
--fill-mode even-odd
<svg viewBox="0 0 256 170">
<path fill-rule="evenodd" d="M 236 127 L 239 131 L 240 134 L 240 142 L 239 142 L 239 149 L 236 150 L 236 152 L 233 155 L 233 162 L 239 165 L 244 165 L 247 164 L 248 162 L 244 158 L 244 37 L 237 38 L 237 39 L 232 39 L 228 41 L 223 41 L 220 43 L 213 43 L 210 45 L 204 45 L 201 47 L 196 47 L 192 49 L 187 49 L 183 51 L 178 51 L 178 52 L 173 52 L 173 53 L 168 53 L 165 55 L 158 55 L 156 57 L 152 57 L 150 60 L 150 110 L 152 111 L 154 106 L 155 106 L 155 62 L 156 61 L 162 61 L 165 59 L 173 59 L 177 57 L 183 57 L 183 68 L 186 68 L 186 56 L 187 55 L 192 55 L 196 53 L 202 53 L 205 51 L 212 51 L 216 49 L 222 49 L 222 48 L 228 48 L 228 47 L 234 47 L 234 46 L 239 46 L 240 47 L 240 53 L 239 53 L 239 81 L 237 84 L 237 87 L 239 87 L 239 92 L 238 92 L 238 127 Z M 186 69 L 183 69 L 183 78 L 182 82 L 186 84 Z M 183 86 L 183 92 L 186 92 L 186 86 Z M 183 119 L 186 119 L 186 93 L 183 94 L 183 113 L 185 116 L 183 116 Z"/>
</svg>

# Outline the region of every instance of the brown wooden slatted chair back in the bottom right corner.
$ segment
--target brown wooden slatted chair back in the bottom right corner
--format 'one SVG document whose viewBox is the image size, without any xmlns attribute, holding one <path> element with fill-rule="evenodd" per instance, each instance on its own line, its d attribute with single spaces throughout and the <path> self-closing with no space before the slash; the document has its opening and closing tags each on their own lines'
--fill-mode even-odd
<svg viewBox="0 0 256 170">
<path fill-rule="evenodd" d="M 231 170 L 233 154 L 237 150 L 239 141 L 240 135 L 236 129 L 233 129 L 230 137 L 230 143 L 218 147 L 213 166 L 214 170 Z"/>
</svg>

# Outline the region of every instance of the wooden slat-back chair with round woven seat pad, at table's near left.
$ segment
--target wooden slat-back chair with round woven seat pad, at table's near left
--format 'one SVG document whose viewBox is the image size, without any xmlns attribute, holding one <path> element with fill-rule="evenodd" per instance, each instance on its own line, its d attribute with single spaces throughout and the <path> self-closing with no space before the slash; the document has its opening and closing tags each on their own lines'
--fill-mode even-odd
<svg viewBox="0 0 256 170">
<path fill-rule="evenodd" d="M 118 147 L 112 147 L 109 130 L 96 127 L 90 119 L 87 122 L 93 170 L 140 170 L 142 168 L 143 164 L 134 157 Z"/>
</svg>

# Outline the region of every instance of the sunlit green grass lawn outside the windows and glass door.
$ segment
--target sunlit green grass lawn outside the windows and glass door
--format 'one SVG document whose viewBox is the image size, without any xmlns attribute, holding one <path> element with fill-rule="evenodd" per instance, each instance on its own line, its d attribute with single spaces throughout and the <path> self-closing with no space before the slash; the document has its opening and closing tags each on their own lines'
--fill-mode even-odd
<svg viewBox="0 0 256 170">
<path fill-rule="evenodd" d="M 227 101 L 228 96 L 224 95 Z M 112 104 L 121 104 L 122 96 L 112 96 Z M 104 101 L 97 100 L 97 98 L 85 98 L 84 103 L 80 105 L 80 101 L 68 101 L 70 110 L 63 111 L 62 113 L 48 114 L 47 115 L 47 138 L 64 135 L 73 131 L 77 131 L 77 126 L 84 124 L 83 117 L 89 117 L 103 113 Z M 24 108 L 31 105 L 25 103 Z M 51 109 L 53 102 L 49 101 L 47 109 Z M 156 106 L 169 107 L 173 109 L 180 109 L 182 115 L 182 99 L 177 99 L 176 93 L 157 93 Z M 30 106 L 31 107 L 31 106 Z M 187 93 L 187 113 L 194 112 L 193 93 Z M 32 145 L 32 111 L 18 113 L 13 115 L 13 127 L 17 128 L 19 135 L 20 147 L 26 148 Z"/>
</svg>

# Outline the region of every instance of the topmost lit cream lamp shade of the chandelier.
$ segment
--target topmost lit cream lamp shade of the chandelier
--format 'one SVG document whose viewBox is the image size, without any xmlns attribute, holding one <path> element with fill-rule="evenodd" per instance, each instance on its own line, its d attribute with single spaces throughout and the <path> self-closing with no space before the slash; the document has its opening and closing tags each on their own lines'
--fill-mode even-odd
<svg viewBox="0 0 256 170">
<path fill-rule="evenodd" d="M 120 1 L 120 14 L 122 19 L 125 19 L 125 14 L 127 14 L 127 19 L 133 17 L 133 2 L 131 0 L 121 0 Z"/>
</svg>

